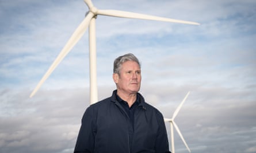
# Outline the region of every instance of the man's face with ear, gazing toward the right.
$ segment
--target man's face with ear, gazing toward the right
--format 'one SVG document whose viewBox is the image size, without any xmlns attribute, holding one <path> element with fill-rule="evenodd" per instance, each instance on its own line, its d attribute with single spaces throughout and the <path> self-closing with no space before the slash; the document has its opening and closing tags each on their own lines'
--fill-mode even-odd
<svg viewBox="0 0 256 153">
<path fill-rule="evenodd" d="M 140 89 L 142 76 L 140 66 L 135 61 L 126 61 L 122 64 L 120 74 L 113 74 L 117 90 L 123 93 L 136 93 Z"/>
</svg>

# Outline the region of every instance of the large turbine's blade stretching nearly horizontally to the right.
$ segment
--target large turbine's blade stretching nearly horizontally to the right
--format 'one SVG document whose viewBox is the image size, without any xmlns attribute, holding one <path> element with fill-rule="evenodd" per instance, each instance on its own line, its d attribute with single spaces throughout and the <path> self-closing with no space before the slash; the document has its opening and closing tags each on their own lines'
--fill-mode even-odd
<svg viewBox="0 0 256 153">
<path fill-rule="evenodd" d="M 171 19 L 171 18 L 163 18 L 163 17 L 154 16 L 154 15 L 146 15 L 146 14 L 132 13 L 132 12 L 128 12 L 128 11 L 119 11 L 119 10 L 98 10 L 97 14 L 108 15 L 108 16 L 112 16 L 112 17 L 121 17 L 121 18 L 149 19 L 149 20 L 155 20 L 155 21 L 185 23 L 185 24 L 190 24 L 190 25 L 200 25 L 197 22 L 183 21 L 183 20 Z"/>
</svg>

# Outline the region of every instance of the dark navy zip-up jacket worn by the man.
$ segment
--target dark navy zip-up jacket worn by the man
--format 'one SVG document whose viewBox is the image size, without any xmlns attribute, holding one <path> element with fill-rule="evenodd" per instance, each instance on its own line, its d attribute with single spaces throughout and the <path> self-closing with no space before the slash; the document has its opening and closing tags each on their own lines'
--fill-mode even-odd
<svg viewBox="0 0 256 153">
<path fill-rule="evenodd" d="M 147 104 L 138 93 L 140 104 L 135 109 L 132 127 L 129 116 L 116 100 L 115 94 L 116 91 L 111 97 L 86 109 L 74 152 L 169 152 L 166 127 L 161 112 Z M 131 147 L 129 134 L 133 134 Z"/>
</svg>

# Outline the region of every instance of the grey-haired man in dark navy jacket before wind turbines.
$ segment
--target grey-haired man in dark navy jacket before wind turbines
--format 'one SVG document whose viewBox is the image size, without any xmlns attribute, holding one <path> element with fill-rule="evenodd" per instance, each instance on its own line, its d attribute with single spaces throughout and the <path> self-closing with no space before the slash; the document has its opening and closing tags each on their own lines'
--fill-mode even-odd
<svg viewBox="0 0 256 153">
<path fill-rule="evenodd" d="M 169 152 L 161 112 L 140 93 L 140 62 L 133 54 L 114 61 L 112 96 L 90 105 L 82 118 L 74 152 Z"/>
</svg>

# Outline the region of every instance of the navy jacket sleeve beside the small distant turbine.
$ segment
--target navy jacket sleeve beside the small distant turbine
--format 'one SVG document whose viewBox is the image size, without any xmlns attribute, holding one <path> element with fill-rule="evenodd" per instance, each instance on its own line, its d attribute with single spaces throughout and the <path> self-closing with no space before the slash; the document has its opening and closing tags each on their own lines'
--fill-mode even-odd
<svg viewBox="0 0 256 153">
<path fill-rule="evenodd" d="M 158 136 L 156 137 L 155 141 L 155 152 L 156 153 L 171 153 L 169 151 L 169 142 L 165 127 L 165 121 L 163 120 L 162 113 L 158 113 L 158 124 L 159 124 L 159 130 L 158 130 Z"/>
</svg>

